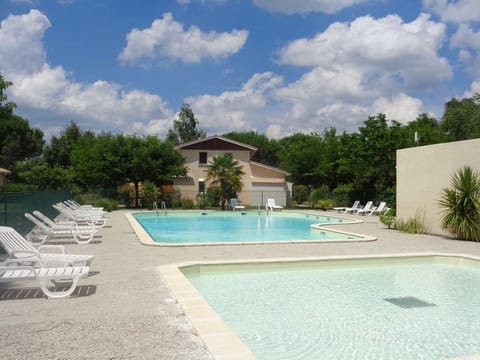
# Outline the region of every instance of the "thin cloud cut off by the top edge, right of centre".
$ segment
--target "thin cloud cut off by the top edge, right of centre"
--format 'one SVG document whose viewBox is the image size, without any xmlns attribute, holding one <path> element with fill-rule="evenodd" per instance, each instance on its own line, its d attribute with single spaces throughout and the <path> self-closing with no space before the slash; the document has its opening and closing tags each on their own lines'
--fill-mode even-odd
<svg viewBox="0 0 480 360">
<path fill-rule="evenodd" d="M 344 8 L 370 1 L 371 0 L 253 0 L 253 3 L 265 10 L 285 14 L 308 12 L 334 14 Z"/>
</svg>

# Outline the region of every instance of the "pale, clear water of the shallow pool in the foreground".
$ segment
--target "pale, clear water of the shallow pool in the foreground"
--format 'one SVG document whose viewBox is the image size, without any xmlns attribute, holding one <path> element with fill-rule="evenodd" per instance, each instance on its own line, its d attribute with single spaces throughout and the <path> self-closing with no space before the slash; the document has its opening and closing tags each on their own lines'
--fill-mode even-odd
<svg viewBox="0 0 480 360">
<path fill-rule="evenodd" d="M 480 353 L 477 263 L 419 257 L 182 271 L 260 360 L 433 360 Z"/>
</svg>

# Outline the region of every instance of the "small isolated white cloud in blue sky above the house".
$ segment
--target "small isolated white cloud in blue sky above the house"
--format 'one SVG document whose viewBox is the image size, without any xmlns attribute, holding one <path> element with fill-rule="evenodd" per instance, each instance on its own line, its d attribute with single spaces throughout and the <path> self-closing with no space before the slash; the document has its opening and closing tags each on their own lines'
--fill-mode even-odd
<svg viewBox="0 0 480 360">
<path fill-rule="evenodd" d="M 153 21 L 143 30 L 133 29 L 127 34 L 127 45 L 119 55 L 125 63 L 155 63 L 165 59 L 184 63 L 199 63 L 204 59 L 222 59 L 237 53 L 248 38 L 246 30 L 230 33 L 202 32 L 191 26 L 188 30 L 173 20 L 171 13 Z"/>
</svg>

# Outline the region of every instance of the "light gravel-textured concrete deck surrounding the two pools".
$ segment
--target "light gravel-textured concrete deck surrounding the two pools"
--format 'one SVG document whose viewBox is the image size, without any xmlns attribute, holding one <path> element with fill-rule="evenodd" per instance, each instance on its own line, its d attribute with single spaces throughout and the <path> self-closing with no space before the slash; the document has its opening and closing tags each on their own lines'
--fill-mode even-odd
<svg viewBox="0 0 480 360">
<path fill-rule="evenodd" d="M 93 244 L 68 243 L 69 253 L 93 254 L 91 276 L 74 297 L 46 300 L 35 282 L 0 284 L 2 359 L 211 359 L 158 267 L 192 261 L 397 253 L 480 256 L 480 243 L 386 229 L 378 217 L 339 230 L 375 236 L 354 243 L 152 247 L 140 243 L 127 211 L 109 214 Z M 322 212 L 318 212 L 322 214 Z M 328 212 L 329 215 L 338 215 Z"/>
</svg>

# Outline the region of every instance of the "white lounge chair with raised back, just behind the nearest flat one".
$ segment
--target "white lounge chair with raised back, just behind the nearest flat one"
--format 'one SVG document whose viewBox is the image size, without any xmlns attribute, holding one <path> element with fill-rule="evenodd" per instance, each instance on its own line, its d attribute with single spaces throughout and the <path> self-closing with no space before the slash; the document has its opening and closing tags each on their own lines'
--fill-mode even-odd
<svg viewBox="0 0 480 360">
<path fill-rule="evenodd" d="M 89 266 L 95 256 L 66 254 L 61 245 L 40 245 L 35 248 L 29 241 L 15 229 L 0 226 L 0 245 L 8 254 L 9 263 L 17 265 L 30 265 L 34 267 L 45 266 Z M 44 251 L 54 252 L 44 252 Z"/>
</svg>

